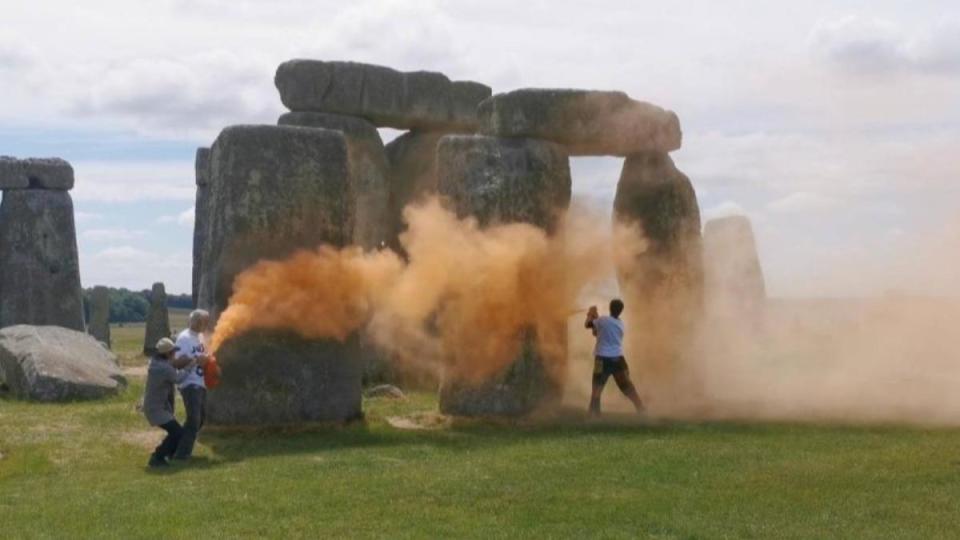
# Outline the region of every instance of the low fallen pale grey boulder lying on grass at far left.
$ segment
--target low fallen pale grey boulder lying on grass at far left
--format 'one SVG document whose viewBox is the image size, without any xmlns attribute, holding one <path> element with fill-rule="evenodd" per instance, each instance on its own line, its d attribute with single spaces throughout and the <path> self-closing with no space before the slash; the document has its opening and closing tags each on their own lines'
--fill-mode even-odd
<svg viewBox="0 0 960 540">
<path fill-rule="evenodd" d="M 126 386 L 117 357 L 92 336 L 57 326 L 0 330 L 0 379 L 33 401 L 96 399 Z"/>
</svg>

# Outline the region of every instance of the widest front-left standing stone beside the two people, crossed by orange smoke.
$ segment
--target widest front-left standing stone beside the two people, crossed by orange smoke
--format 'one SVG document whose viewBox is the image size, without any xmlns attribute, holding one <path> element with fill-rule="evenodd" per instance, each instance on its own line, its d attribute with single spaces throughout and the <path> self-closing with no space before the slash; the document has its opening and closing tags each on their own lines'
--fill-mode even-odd
<svg viewBox="0 0 960 540">
<path fill-rule="evenodd" d="M 210 153 L 209 236 L 200 305 L 216 318 L 234 278 L 263 259 L 353 242 L 356 196 L 339 131 L 232 126 Z M 217 351 L 223 370 L 209 418 L 221 424 L 288 424 L 361 415 L 356 337 L 341 343 L 252 331 Z"/>
</svg>

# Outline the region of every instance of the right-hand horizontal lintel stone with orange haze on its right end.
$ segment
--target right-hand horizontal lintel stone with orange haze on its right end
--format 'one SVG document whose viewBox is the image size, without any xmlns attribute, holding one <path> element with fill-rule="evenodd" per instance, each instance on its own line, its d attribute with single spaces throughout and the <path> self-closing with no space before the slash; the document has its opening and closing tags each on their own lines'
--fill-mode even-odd
<svg viewBox="0 0 960 540">
<path fill-rule="evenodd" d="M 563 144 L 570 155 L 627 156 L 680 148 L 673 111 L 623 92 L 527 88 L 497 94 L 478 108 L 480 133 Z"/>
</svg>

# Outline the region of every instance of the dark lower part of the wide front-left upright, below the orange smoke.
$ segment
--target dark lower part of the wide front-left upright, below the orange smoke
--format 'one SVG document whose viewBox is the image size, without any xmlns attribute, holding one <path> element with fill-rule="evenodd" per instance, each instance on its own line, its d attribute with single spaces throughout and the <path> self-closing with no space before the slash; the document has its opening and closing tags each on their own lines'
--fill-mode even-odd
<svg viewBox="0 0 960 540">
<path fill-rule="evenodd" d="M 361 365 L 356 338 L 345 343 L 254 331 L 217 352 L 220 385 L 210 392 L 215 424 L 284 425 L 359 419 Z"/>
</svg>

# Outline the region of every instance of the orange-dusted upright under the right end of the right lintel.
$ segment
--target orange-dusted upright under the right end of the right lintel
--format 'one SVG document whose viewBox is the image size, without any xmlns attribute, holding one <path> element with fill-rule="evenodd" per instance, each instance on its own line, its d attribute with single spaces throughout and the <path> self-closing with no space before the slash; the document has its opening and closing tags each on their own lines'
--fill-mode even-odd
<svg viewBox="0 0 960 540">
<path fill-rule="evenodd" d="M 687 352 L 702 308 L 696 193 L 667 154 L 634 154 L 624 160 L 614 217 L 639 226 L 646 241 L 644 251 L 617 257 L 631 368 L 648 396 L 676 390 L 672 385 L 688 376 Z"/>
</svg>

